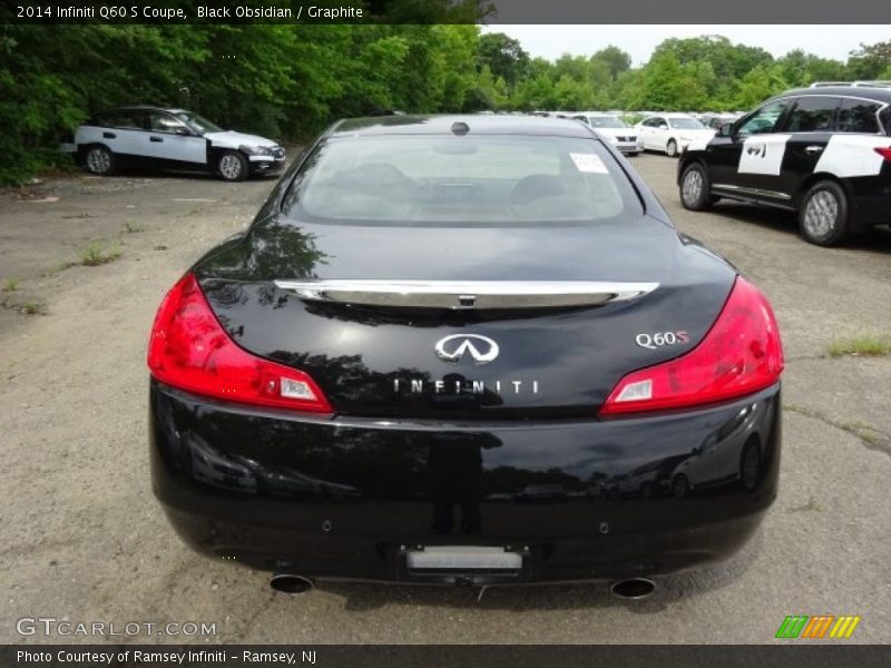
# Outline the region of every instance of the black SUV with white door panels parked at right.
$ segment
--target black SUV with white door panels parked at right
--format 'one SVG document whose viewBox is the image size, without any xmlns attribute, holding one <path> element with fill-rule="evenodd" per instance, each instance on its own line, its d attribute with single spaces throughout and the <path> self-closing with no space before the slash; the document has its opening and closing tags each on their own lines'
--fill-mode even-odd
<svg viewBox="0 0 891 668">
<path fill-rule="evenodd" d="M 678 163 L 685 208 L 721 198 L 794 210 L 820 246 L 891 224 L 891 81 L 789 90 L 692 143 Z"/>
</svg>

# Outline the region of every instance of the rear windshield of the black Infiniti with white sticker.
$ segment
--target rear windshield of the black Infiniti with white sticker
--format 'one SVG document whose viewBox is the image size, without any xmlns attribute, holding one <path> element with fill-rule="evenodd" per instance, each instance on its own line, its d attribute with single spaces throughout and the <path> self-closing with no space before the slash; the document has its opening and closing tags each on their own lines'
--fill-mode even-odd
<svg viewBox="0 0 891 668">
<path fill-rule="evenodd" d="M 513 135 L 329 139 L 284 208 L 320 223 L 386 225 L 597 223 L 642 212 L 599 140 Z"/>
</svg>

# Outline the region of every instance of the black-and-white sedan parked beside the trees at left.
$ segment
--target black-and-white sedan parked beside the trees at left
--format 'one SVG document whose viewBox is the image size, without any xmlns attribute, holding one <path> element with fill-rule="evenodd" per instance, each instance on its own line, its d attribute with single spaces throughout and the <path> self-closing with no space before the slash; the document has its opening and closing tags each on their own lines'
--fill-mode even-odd
<svg viewBox="0 0 891 668">
<path fill-rule="evenodd" d="M 285 149 L 272 139 L 223 130 L 185 109 L 118 107 L 97 114 L 75 132 L 71 149 L 92 174 L 125 167 L 209 171 L 225 180 L 277 174 Z"/>
</svg>

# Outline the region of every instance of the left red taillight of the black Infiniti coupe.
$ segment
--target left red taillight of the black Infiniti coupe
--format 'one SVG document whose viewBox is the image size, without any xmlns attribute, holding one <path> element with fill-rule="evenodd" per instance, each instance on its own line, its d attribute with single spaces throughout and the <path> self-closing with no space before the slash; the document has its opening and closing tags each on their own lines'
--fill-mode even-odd
<svg viewBox="0 0 891 668">
<path fill-rule="evenodd" d="M 238 347 L 216 320 L 193 274 L 174 285 L 158 308 L 148 343 L 148 369 L 161 383 L 204 396 L 333 412 L 309 375 Z"/>
</svg>

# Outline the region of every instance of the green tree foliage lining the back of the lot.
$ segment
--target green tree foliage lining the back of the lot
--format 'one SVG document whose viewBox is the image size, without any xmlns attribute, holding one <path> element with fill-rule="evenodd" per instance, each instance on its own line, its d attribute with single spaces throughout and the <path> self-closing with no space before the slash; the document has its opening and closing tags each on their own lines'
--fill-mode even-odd
<svg viewBox="0 0 891 668">
<path fill-rule="evenodd" d="M 362 26 L 0 24 L 0 183 L 52 166 L 84 119 L 125 104 L 183 106 L 284 140 L 384 109 L 723 111 L 819 79 L 891 78 L 891 42 L 848 63 L 801 50 L 775 59 L 719 36 L 667 39 L 639 68 L 611 45 L 551 62 L 481 33 L 484 0 L 369 6 L 379 20 Z M 400 23 L 421 6 L 430 24 Z"/>
</svg>

